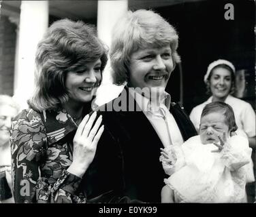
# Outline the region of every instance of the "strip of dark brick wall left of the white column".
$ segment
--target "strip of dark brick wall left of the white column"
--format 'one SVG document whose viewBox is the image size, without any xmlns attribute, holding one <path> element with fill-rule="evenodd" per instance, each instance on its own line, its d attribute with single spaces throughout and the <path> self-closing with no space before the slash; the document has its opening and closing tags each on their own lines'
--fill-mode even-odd
<svg viewBox="0 0 256 217">
<path fill-rule="evenodd" d="M 0 94 L 14 94 L 16 25 L 7 16 L 0 18 Z"/>
</svg>

